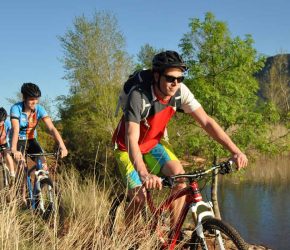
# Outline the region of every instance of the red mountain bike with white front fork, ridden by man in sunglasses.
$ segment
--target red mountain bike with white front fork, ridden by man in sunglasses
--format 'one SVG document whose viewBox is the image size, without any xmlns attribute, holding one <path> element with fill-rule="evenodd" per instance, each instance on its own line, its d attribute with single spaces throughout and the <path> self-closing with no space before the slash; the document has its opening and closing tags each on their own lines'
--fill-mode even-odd
<svg viewBox="0 0 290 250">
<path fill-rule="evenodd" d="M 228 223 L 216 219 L 212 203 L 203 201 L 198 181 L 205 179 L 209 173 L 217 169 L 219 174 L 232 172 L 232 161 L 228 160 L 216 164 L 207 170 L 197 170 L 193 173 L 179 174 L 162 179 L 163 186 L 172 188 L 180 181 L 186 181 L 187 187 L 175 194 L 169 195 L 158 207 L 155 207 L 150 191 L 147 190 L 146 203 L 151 212 L 151 219 L 148 228 L 155 233 L 160 242 L 160 249 L 248 249 L 248 244 L 242 239 L 239 233 Z M 170 204 L 176 199 L 185 196 L 185 204 L 181 210 L 176 225 L 169 226 L 169 220 L 165 217 Z M 112 235 L 115 226 L 117 210 L 122 201 L 126 200 L 125 195 L 116 197 L 109 211 L 109 234 Z M 165 215 L 165 216 L 164 216 Z M 194 224 L 190 227 L 190 233 L 185 234 L 184 228 L 187 224 L 187 215 L 193 219 Z"/>
</svg>

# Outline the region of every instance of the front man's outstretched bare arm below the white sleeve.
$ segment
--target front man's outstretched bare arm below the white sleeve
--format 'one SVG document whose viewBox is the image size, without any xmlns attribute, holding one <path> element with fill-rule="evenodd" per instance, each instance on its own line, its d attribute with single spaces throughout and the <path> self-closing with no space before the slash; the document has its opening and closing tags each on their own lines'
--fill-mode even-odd
<svg viewBox="0 0 290 250">
<path fill-rule="evenodd" d="M 202 107 L 191 113 L 191 116 L 202 126 L 202 128 L 217 142 L 229 150 L 233 159 L 237 163 L 238 169 L 247 166 L 248 159 L 245 154 L 236 146 L 226 132 L 218 125 L 218 123 L 207 115 Z"/>
</svg>

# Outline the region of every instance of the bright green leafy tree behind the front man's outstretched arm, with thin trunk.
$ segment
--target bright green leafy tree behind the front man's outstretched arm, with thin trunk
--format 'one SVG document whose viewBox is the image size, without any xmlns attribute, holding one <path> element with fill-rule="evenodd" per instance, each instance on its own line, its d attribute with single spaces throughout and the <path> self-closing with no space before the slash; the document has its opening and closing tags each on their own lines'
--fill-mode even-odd
<svg viewBox="0 0 290 250">
<path fill-rule="evenodd" d="M 212 13 L 206 13 L 204 21 L 192 19 L 189 29 L 180 44 L 189 65 L 186 84 L 242 150 L 265 148 L 266 127 L 257 111 L 258 83 L 253 76 L 264 58 L 253 48 L 252 37 L 232 38 L 226 23 L 217 21 Z M 185 145 L 213 162 L 228 157 L 228 152 L 200 129 L 188 133 Z M 217 180 L 215 175 L 212 199 L 220 216 Z"/>
</svg>

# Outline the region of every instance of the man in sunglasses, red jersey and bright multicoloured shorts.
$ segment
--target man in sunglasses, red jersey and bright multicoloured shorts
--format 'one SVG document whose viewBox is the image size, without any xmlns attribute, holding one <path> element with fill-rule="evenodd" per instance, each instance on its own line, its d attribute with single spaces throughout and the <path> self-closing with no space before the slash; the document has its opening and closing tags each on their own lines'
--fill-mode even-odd
<svg viewBox="0 0 290 250">
<path fill-rule="evenodd" d="M 152 60 L 152 80 L 140 84 L 128 96 L 124 115 L 113 136 L 117 148 L 115 157 L 131 199 L 126 208 L 127 226 L 134 222 L 144 206 L 147 189 L 161 189 L 158 174 L 165 176 L 184 173 L 174 153 L 161 142 L 164 130 L 176 112 L 182 109 L 190 114 L 216 141 L 230 151 L 238 168 L 247 165 L 247 157 L 232 142 L 223 129 L 209 117 L 190 90 L 183 84 L 187 70 L 181 56 L 175 51 L 158 53 Z M 149 85 L 149 87 L 148 87 Z M 145 97 L 144 97 L 145 96 Z M 142 118 L 142 103 L 147 98 L 151 104 L 147 118 Z M 179 104 L 178 104 L 179 103 Z M 175 193 L 185 187 L 180 183 L 172 189 Z M 171 225 L 177 221 L 184 198 L 172 206 Z"/>
</svg>

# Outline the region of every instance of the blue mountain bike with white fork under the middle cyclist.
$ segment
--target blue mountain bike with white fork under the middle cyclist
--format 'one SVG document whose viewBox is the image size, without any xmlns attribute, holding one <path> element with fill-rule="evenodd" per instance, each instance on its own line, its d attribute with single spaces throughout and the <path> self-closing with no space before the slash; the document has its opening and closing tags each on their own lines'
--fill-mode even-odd
<svg viewBox="0 0 290 250">
<path fill-rule="evenodd" d="M 48 220 L 53 214 L 58 214 L 59 221 L 63 220 L 63 205 L 59 190 L 49 175 L 48 170 L 43 169 L 41 157 L 58 158 L 57 153 L 26 154 L 24 171 L 26 184 L 27 208 L 32 209 L 44 220 Z M 28 167 L 28 158 L 32 158 L 36 164 Z"/>
</svg>

